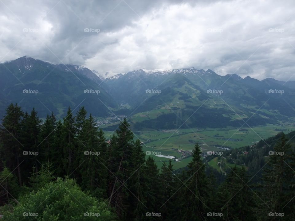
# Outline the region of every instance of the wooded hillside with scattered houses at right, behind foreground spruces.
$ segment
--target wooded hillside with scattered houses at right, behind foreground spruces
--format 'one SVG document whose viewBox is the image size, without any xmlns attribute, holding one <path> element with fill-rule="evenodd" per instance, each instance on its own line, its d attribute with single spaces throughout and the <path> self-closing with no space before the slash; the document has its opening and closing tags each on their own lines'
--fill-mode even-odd
<svg viewBox="0 0 295 221">
<path fill-rule="evenodd" d="M 225 174 L 230 173 L 234 165 L 244 166 L 252 177 L 252 182 L 262 182 L 263 169 L 265 169 L 270 160 L 270 154 L 274 153 L 275 146 L 280 142 L 282 136 L 285 136 L 287 140 L 286 145 L 289 145 L 292 152 L 295 152 L 295 131 L 288 134 L 279 132 L 277 135 L 251 146 L 222 151 L 222 155 L 209 155 L 206 157 L 208 165 L 206 173 L 209 175 L 213 172 L 219 184 L 225 179 Z M 181 173 L 183 170 L 187 170 L 187 167 L 180 168 L 175 173 Z"/>
</svg>

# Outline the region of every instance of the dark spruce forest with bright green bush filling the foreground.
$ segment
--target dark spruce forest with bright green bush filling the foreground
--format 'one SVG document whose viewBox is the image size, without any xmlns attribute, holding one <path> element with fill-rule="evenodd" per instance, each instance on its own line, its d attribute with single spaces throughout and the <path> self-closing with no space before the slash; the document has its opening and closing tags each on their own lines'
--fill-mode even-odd
<svg viewBox="0 0 295 221">
<path fill-rule="evenodd" d="M 290 134 L 279 134 L 267 156 L 255 146 L 241 154 L 225 152 L 222 161 L 236 165 L 219 183 L 212 171 L 206 173 L 209 158 L 198 144 L 186 171 L 176 174 L 171 161 L 158 169 L 146 157 L 126 119 L 106 142 L 84 107 L 72 112 L 69 108 L 61 120 L 51 113 L 42 122 L 35 109 L 6 108 L 0 130 L 1 220 L 294 220 Z M 264 160 L 258 182 L 247 161 L 256 153 Z"/>
</svg>

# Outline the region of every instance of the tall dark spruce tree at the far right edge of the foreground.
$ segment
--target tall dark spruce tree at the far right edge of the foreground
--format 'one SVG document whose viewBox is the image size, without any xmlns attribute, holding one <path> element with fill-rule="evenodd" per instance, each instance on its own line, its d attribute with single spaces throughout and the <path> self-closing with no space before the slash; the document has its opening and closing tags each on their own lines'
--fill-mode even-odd
<svg viewBox="0 0 295 221">
<path fill-rule="evenodd" d="M 273 151 L 270 151 L 269 162 L 263 171 L 262 193 L 263 210 L 261 216 L 266 217 L 269 213 L 284 213 L 283 220 L 292 220 L 294 212 L 294 153 L 289 140 L 282 134 L 281 139 Z M 278 217 L 269 217 L 276 220 Z"/>
</svg>

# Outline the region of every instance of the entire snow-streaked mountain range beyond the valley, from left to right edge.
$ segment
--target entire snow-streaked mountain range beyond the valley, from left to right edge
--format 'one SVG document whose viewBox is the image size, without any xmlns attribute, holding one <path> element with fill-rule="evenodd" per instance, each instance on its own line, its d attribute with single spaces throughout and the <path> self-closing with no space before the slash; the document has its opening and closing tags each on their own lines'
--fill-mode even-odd
<svg viewBox="0 0 295 221">
<path fill-rule="evenodd" d="M 137 130 L 255 126 L 295 117 L 295 81 L 220 76 L 193 67 L 108 76 L 28 56 L 0 64 L 0 114 L 13 102 L 41 117 L 85 106 L 95 117 L 130 115 Z M 110 128 L 111 129 L 111 128 Z"/>
</svg>

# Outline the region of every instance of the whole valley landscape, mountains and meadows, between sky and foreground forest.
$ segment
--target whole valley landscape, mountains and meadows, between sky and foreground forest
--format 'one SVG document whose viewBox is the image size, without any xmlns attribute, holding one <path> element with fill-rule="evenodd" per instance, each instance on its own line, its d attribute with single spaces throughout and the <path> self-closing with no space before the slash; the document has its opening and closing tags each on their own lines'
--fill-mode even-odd
<svg viewBox="0 0 295 221">
<path fill-rule="evenodd" d="M 2 115 L 10 102 L 24 101 L 23 110 L 35 107 L 43 120 L 48 110 L 62 119 L 69 106 L 73 112 L 85 106 L 107 140 L 127 118 L 144 151 L 174 157 L 175 169 L 191 160 L 196 142 L 206 157 L 207 151 L 253 145 L 279 131 L 295 130 L 293 81 L 220 76 L 193 67 L 140 69 L 106 78 L 83 66 L 29 56 L 0 66 L 0 76 Z M 28 89 L 38 93 L 23 92 Z M 168 161 L 151 157 L 158 167 Z"/>
</svg>

